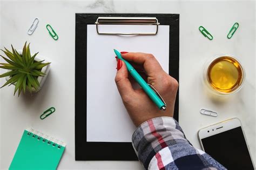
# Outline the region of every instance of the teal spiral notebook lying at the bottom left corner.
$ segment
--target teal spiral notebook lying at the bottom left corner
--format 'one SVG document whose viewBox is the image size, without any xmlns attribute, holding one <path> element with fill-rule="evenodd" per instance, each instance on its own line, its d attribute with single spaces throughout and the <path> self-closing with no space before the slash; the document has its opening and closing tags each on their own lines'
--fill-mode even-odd
<svg viewBox="0 0 256 170">
<path fill-rule="evenodd" d="M 9 169 L 56 169 L 65 146 L 42 132 L 25 130 Z"/>
</svg>

